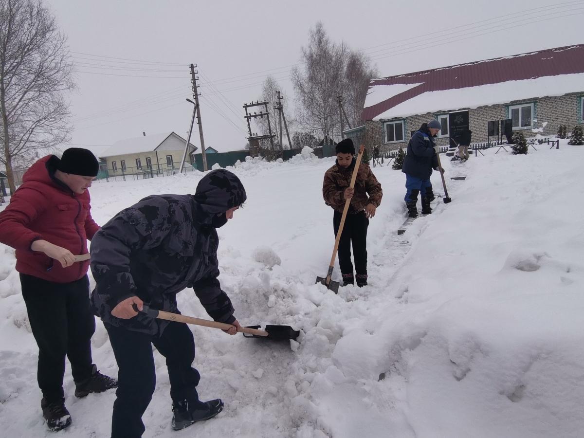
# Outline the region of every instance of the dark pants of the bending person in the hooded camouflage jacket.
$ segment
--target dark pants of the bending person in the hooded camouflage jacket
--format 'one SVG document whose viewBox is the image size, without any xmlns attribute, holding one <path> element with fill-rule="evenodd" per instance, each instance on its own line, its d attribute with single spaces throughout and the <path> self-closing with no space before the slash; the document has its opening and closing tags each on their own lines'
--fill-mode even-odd
<svg viewBox="0 0 584 438">
<path fill-rule="evenodd" d="M 161 336 L 133 332 L 106 325 L 116 356 L 119 373 L 116 401 L 113 404 L 112 438 L 134 438 L 144 433 L 142 414 L 150 404 L 156 374 L 152 345 L 166 357 L 173 402 L 190 404 L 199 401 L 196 387 L 201 378 L 192 367 L 194 360 L 193 333 L 182 322 L 171 322 Z"/>
</svg>

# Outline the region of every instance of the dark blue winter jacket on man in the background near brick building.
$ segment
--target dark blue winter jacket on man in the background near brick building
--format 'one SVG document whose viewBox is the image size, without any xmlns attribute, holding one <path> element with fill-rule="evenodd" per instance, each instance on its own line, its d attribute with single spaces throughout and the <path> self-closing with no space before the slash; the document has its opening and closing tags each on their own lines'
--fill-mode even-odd
<svg viewBox="0 0 584 438">
<path fill-rule="evenodd" d="M 430 131 L 420 129 L 412 135 L 402 172 L 419 179 L 429 179 L 432 169 L 438 170 L 438 158 L 434 146 L 436 142 Z"/>
</svg>

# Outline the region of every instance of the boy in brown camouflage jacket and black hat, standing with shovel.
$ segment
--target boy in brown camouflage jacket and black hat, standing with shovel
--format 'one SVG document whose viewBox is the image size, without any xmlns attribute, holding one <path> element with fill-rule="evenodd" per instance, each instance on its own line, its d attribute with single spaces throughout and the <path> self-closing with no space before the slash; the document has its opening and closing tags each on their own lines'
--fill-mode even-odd
<svg viewBox="0 0 584 438">
<path fill-rule="evenodd" d="M 376 208 L 381 204 L 383 190 L 371 168 L 365 163 L 359 166 L 354 189 L 349 188 L 356 163 L 354 155 L 355 147 L 350 138 L 345 138 L 336 145 L 336 163 L 325 173 L 322 196 L 326 205 L 335 211 L 333 214 L 335 235 L 339 231 L 345 200 L 351 200 L 345 227 L 340 235 L 339 265 L 343 275 L 343 286 L 354 284 L 352 244 L 357 286 L 363 287 L 367 285 L 367 227 L 369 219 L 374 217 Z"/>
</svg>

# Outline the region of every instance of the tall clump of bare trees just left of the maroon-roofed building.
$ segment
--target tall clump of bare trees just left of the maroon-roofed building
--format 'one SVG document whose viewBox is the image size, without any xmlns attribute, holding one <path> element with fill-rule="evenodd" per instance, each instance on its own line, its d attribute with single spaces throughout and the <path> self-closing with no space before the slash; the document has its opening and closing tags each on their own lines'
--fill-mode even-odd
<svg viewBox="0 0 584 438">
<path fill-rule="evenodd" d="M 333 43 L 321 22 L 310 30 L 302 58 L 304 68 L 292 72 L 298 120 L 308 130 L 340 140 L 337 96 L 343 96 L 353 126 L 359 124 L 367 86 L 377 72 L 363 53 L 351 50 L 344 42 Z"/>
</svg>

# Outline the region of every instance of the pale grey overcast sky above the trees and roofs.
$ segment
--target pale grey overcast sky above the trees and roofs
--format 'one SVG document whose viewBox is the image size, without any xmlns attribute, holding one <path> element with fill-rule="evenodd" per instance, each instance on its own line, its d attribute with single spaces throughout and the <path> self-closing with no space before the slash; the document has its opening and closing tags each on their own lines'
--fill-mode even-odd
<svg viewBox="0 0 584 438">
<path fill-rule="evenodd" d="M 272 74 L 294 113 L 290 69 L 320 20 L 380 75 L 584 43 L 584 1 L 47 0 L 77 64 L 72 145 L 142 131 L 186 137 L 188 65 L 198 64 L 205 143 L 242 149 L 242 105 Z M 507 18 L 506 18 L 507 17 Z M 199 146 L 195 125 L 193 144 Z"/>
</svg>

